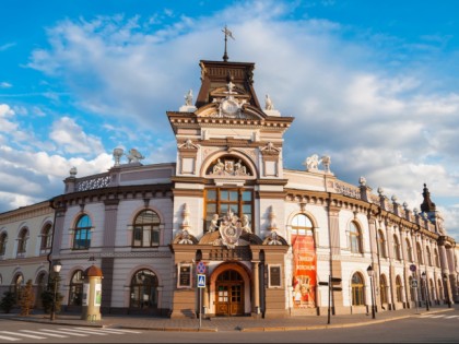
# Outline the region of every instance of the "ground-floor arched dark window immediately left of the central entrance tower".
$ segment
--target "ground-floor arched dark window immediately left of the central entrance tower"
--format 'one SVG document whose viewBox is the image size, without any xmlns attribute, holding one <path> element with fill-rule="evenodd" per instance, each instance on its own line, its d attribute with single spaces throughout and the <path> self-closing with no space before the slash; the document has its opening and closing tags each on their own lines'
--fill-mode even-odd
<svg viewBox="0 0 459 344">
<path fill-rule="evenodd" d="M 143 269 L 133 274 L 129 307 L 138 310 L 157 308 L 157 277 L 152 271 Z"/>
</svg>

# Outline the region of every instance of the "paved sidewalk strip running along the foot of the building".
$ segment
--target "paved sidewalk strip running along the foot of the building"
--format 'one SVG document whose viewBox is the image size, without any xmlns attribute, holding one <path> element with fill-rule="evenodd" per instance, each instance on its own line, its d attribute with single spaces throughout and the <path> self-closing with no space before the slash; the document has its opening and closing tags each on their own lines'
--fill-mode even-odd
<svg viewBox="0 0 459 344">
<path fill-rule="evenodd" d="M 425 308 L 401 309 L 393 311 L 380 311 L 376 313 L 375 319 L 372 315 L 345 315 L 331 316 L 330 324 L 328 317 L 308 316 L 287 319 L 254 319 L 250 317 L 235 318 L 211 318 L 202 319 L 201 325 L 199 319 L 168 319 L 155 318 L 151 316 L 115 316 L 102 315 L 102 320 L 90 322 L 81 320 L 79 313 L 62 312 L 56 315 L 56 320 L 49 320 L 49 315 L 43 312 L 32 313 L 28 317 L 21 317 L 17 313 L 0 313 L 0 319 L 40 322 L 46 324 L 78 325 L 94 328 L 115 328 L 115 329 L 138 329 L 152 331 L 181 331 L 181 332 L 222 332 L 222 331 L 297 331 L 297 330 L 325 330 L 333 328 L 360 327 L 366 324 L 381 323 L 409 317 L 419 317 L 425 313 L 438 313 L 455 311 L 455 307 L 447 306 L 431 307 L 427 312 Z"/>
</svg>

